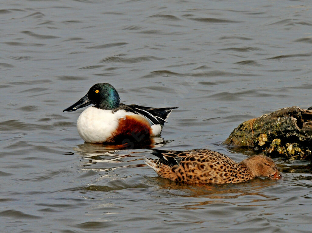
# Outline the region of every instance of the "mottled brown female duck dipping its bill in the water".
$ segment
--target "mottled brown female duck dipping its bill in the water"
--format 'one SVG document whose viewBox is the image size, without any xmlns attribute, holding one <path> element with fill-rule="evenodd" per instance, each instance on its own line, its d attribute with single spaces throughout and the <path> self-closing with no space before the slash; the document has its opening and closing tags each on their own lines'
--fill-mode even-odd
<svg viewBox="0 0 312 233">
<path fill-rule="evenodd" d="M 188 151 L 154 150 L 158 159 L 145 158 L 145 163 L 158 176 L 188 184 L 239 183 L 255 177 L 280 179 L 274 161 L 254 155 L 236 163 L 224 154 L 207 149 Z"/>
</svg>

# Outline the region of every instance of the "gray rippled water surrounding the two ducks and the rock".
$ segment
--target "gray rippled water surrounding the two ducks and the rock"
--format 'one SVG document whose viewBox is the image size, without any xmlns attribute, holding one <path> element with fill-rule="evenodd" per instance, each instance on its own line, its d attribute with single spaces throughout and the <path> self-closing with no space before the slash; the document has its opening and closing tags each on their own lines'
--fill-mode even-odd
<svg viewBox="0 0 312 233">
<path fill-rule="evenodd" d="M 274 158 L 283 179 L 179 185 L 148 149 L 84 143 L 97 82 L 122 102 L 177 106 L 165 149 L 221 145 L 242 121 L 312 105 L 312 5 L 297 1 L 7 1 L 0 7 L 1 232 L 310 232 L 310 161 Z"/>
</svg>

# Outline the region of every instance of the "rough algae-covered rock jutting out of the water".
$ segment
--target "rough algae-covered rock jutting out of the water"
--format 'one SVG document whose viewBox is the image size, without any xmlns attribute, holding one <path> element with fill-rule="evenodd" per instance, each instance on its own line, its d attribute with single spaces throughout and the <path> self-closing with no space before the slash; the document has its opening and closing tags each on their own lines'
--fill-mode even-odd
<svg viewBox="0 0 312 233">
<path fill-rule="evenodd" d="M 244 121 L 223 144 L 253 147 L 288 158 L 309 157 L 312 155 L 312 110 L 293 106 Z"/>
</svg>

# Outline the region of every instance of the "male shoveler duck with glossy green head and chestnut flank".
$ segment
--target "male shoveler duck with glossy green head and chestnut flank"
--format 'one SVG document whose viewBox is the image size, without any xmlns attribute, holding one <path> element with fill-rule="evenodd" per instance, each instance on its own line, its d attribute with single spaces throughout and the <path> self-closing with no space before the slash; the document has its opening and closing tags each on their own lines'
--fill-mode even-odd
<svg viewBox="0 0 312 233">
<path fill-rule="evenodd" d="M 90 104 L 77 120 L 80 137 L 90 143 L 128 143 L 157 136 L 172 109 L 121 104 L 118 92 L 109 83 L 97 83 L 88 93 L 63 112 Z"/>
</svg>

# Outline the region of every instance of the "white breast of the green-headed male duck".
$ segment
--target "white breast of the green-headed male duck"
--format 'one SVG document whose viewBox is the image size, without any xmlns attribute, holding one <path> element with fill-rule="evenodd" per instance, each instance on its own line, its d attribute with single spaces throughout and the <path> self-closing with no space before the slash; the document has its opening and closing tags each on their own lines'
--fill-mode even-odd
<svg viewBox="0 0 312 233">
<path fill-rule="evenodd" d="M 112 113 L 111 110 L 89 107 L 85 109 L 77 120 L 77 130 L 86 142 L 103 143 L 112 136 L 118 127 L 118 120 L 125 115 L 135 115 L 124 110 Z"/>
</svg>

